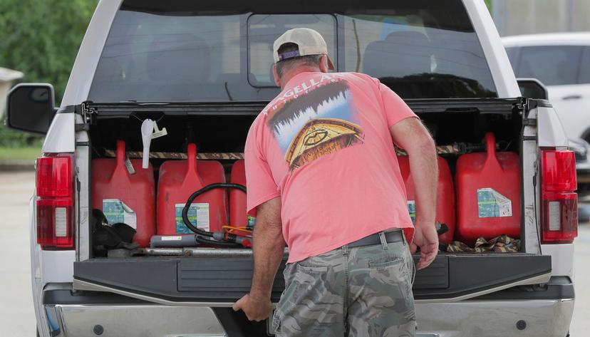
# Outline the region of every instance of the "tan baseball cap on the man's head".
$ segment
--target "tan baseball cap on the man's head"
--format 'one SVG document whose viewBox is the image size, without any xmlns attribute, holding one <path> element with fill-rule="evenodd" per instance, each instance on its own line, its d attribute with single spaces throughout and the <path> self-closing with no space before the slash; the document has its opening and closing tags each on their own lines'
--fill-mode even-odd
<svg viewBox="0 0 590 337">
<path fill-rule="evenodd" d="M 279 55 L 279 48 L 284 45 L 284 43 L 295 43 L 299 46 L 299 51 L 288 51 Z M 326 41 L 324 41 L 324 38 L 320 33 L 310 28 L 289 29 L 289 31 L 284 32 L 283 35 L 279 36 L 279 38 L 274 41 L 272 50 L 274 63 L 299 56 L 321 54 L 326 54 L 326 56 L 328 56 Z M 329 56 L 328 68 L 330 68 L 330 70 L 334 69 L 334 65 Z"/>
</svg>

